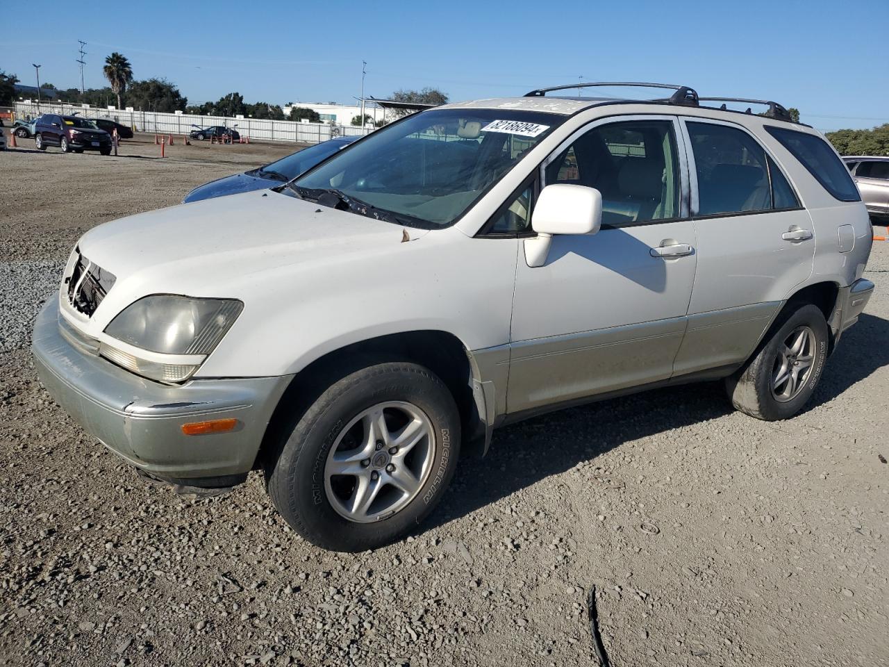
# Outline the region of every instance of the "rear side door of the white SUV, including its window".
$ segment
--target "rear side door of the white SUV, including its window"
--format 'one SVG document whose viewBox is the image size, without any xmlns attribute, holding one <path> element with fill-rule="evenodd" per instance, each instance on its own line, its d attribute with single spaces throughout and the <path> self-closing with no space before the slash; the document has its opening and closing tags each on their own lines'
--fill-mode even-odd
<svg viewBox="0 0 889 667">
<path fill-rule="evenodd" d="M 812 273 L 809 213 L 773 156 L 741 125 L 683 120 L 698 267 L 676 375 L 749 357 L 787 294 Z"/>
</svg>

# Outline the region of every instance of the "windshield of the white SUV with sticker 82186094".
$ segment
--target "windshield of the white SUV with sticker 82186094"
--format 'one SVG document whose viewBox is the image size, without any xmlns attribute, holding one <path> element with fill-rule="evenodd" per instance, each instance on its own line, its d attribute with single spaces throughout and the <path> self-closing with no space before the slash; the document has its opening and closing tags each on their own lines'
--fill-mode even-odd
<svg viewBox="0 0 889 667">
<path fill-rule="evenodd" d="M 294 185 L 319 204 L 330 201 L 323 196 L 334 189 L 369 205 L 373 214 L 395 213 L 427 229 L 446 227 L 564 120 L 511 109 L 424 111 L 371 133 Z M 370 214 L 364 213 L 367 206 L 350 208 Z"/>
</svg>

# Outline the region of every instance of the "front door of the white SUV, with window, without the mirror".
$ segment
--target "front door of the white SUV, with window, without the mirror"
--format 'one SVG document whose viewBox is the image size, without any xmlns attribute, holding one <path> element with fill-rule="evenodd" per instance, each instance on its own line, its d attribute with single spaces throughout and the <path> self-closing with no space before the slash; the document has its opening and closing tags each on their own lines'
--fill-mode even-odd
<svg viewBox="0 0 889 667">
<path fill-rule="evenodd" d="M 603 197 L 602 229 L 520 253 L 508 412 L 666 380 L 685 333 L 697 253 L 686 160 L 672 117 L 600 120 L 544 163 L 544 184 Z"/>
</svg>

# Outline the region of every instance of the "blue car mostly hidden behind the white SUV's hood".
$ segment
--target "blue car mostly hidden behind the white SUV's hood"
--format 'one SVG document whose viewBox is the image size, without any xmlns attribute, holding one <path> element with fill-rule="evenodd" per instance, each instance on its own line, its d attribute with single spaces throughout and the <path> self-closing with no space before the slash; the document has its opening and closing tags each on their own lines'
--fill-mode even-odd
<svg viewBox="0 0 889 667">
<path fill-rule="evenodd" d="M 300 173 L 308 172 L 322 160 L 331 157 L 337 151 L 346 148 L 359 137 L 337 137 L 330 141 L 322 141 L 308 149 L 298 150 L 287 157 L 282 157 L 271 165 L 265 165 L 250 172 L 234 173 L 231 176 L 199 185 L 182 200 L 182 204 L 197 202 L 201 199 L 236 195 L 238 192 L 250 192 L 274 188 L 286 181 L 292 181 Z"/>
</svg>

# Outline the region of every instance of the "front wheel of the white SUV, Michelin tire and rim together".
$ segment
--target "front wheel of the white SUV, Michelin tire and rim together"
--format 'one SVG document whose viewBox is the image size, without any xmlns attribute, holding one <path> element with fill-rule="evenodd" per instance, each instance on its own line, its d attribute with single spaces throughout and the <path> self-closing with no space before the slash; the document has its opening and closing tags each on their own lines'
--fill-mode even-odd
<svg viewBox="0 0 889 667">
<path fill-rule="evenodd" d="M 460 415 L 428 368 L 378 364 L 334 382 L 281 439 L 265 465 L 277 510 L 319 547 L 362 551 L 436 506 L 460 453 Z"/>
</svg>

